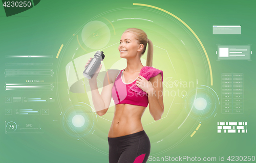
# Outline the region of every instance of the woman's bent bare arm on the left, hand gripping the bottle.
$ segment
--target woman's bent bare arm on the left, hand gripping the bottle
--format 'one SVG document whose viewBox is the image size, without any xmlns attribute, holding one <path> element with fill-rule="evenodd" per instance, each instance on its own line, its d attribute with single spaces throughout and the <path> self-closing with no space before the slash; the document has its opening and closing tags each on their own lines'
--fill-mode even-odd
<svg viewBox="0 0 256 163">
<path fill-rule="evenodd" d="M 91 58 L 89 59 L 86 66 L 90 63 L 90 61 L 91 61 Z M 104 77 L 101 95 L 99 94 L 99 90 L 97 86 L 97 76 L 101 69 L 101 66 L 102 64 L 100 65 L 99 69 L 95 72 L 94 76 L 91 79 L 89 79 L 89 85 L 91 87 L 94 109 L 99 116 L 103 116 L 109 109 L 111 97 L 112 97 L 111 91 L 113 87 L 112 80 L 109 77 L 110 75 L 112 75 L 112 71 L 109 70 L 108 72 L 106 72 Z"/>
</svg>

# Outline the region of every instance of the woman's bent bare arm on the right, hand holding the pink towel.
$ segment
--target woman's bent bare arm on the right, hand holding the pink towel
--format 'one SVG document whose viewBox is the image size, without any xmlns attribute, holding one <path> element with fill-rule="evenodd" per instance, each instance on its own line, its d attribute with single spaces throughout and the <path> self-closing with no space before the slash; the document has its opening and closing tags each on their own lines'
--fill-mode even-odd
<svg viewBox="0 0 256 163">
<path fill-rule="evenodd" d="M 164 112 L 162 76 L 159 73 L 148 81 L 143 76 L 139 76 L 139 78 L 140 82 L 138 83 L 140 83 L 140 85 L 137 86 L 147 93 L 148 103 L 150 105 L 150 114 L 154 120 L 157 121 L 161 119 Z M 145 85 L 142 85 L 142 83 Z"/>
</svg>

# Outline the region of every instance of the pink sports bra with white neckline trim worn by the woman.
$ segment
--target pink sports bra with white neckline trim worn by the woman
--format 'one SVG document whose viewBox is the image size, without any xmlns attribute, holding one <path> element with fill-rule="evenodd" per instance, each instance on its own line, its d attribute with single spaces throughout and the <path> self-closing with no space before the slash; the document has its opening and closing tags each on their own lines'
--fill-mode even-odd
<svg viewBox="0 0 256 163">
<path fill-rule="evenodd" d="M 136 83 L 137 78 L 132 83 L 125 84 L 122 79 L 123 70 L 124 69 L 120 71 L 121 73 L 118 73 L 114 82 L 114 86 L 112 88 L 112 98 L 115 104 L 128 103 L 132 105 L 147 107 L 147 93 L 144 95 L 140 95 L 137 92 L 132 91 L 130 87 Z"/>
</svg>

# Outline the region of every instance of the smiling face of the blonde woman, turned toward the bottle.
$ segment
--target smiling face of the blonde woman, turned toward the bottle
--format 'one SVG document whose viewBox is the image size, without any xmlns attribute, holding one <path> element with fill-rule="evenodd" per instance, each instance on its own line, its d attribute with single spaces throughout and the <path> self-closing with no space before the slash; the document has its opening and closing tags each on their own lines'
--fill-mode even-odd
<svg viewBox="0 0 256 163">
<path fill-rule="evenodd" d="M 133 58 L 137 55 L 137 52 L 141 51 L 140 48 L 141 46 L 143 48 L 143 44 L 139 44 L 135 37 L 131 32 L 122 34 L 120 45 L 118 46 L 121 58 Z"/>
</svg>

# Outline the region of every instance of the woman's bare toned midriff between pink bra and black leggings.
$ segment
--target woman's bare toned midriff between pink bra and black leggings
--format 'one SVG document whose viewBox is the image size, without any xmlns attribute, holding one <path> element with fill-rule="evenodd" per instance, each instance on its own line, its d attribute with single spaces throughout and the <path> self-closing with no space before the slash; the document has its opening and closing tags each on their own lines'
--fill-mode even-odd
<svg viewBox="0 0 256 163">
<path fill-rule="evenodd" d="M 115 114 L 109 130 L 109 138 L 122 137 L 127 134 L 143 130 L 141 117 L 145 111 L 144 106 L 132 104 L 116 104 Z"/>
</svg>

